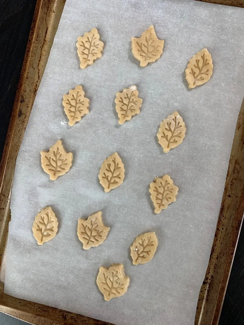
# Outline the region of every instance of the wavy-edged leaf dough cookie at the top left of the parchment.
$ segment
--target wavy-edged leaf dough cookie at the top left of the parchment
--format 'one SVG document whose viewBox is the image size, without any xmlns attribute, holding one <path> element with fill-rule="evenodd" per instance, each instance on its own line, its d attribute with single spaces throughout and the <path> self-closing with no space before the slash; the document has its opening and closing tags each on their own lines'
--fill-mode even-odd
<svg viewBox="0 0 244 325">
<path fill-rule="evenodd" d="M 80 68 L 85 69 L 88 65 L 102 57 L 103 42 L 96 28 L 77 38 L 77 53 L 80 59 Z"/>
</svg>

